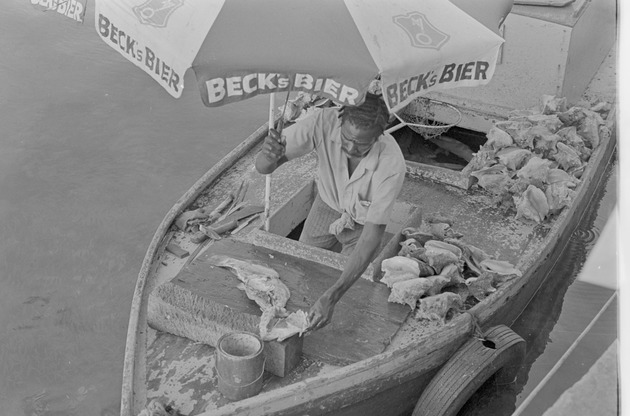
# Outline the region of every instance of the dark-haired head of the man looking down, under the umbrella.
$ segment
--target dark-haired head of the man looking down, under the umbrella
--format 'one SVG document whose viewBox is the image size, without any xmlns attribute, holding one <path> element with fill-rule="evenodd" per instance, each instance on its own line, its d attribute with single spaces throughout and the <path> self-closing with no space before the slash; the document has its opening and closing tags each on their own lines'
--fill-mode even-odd
<svg viewBox="0 0 630 416">
<path fill-rule="evenodd" d="M 367 155 L 379 138 L 389 119 L 385 102 L 377 95 L 367 94 L 363 104 L 343 107 L 341 118 L 341 142 L 349 157 Z"/>
</svg>

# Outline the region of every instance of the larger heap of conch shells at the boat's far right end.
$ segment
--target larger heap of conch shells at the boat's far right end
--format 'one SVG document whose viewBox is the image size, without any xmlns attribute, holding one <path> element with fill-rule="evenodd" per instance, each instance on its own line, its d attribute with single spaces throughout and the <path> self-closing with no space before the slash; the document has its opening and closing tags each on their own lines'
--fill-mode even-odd
<svg viewBox="0 0 630 416">
<path fill-rule="evenodd" d="M 517 219 L 542 223 L 570 206 L 593 150 L 611 134 L 603 119 L 610 104 L 587 106 L 545 95 L 540 108 L 511 112 L 462 172 Z"/>
</svg>

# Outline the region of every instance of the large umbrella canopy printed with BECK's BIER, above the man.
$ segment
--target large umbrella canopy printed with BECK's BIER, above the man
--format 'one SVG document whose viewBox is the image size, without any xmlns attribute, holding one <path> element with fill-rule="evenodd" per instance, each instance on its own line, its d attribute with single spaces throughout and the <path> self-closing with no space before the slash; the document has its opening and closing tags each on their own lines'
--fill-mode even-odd
<svg viewBox="0 0 630 416">
<path fill-rule="evenodd" d="M 97 0 L 101 38 L 172 96 L 193 68 L 207 106 L 305 91 L 357 105 L 380 78 L 395 112 L 482 85 L 503 39 L 447 0 Z"/>
</svg>

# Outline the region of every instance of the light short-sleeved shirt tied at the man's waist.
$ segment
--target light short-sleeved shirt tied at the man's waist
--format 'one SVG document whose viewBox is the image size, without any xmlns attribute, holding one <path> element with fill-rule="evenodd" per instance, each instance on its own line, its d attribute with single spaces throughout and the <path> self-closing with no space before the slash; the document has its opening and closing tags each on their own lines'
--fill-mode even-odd
<svg viewBox="0 0 630 416">
<path fill-rule="evenodd" d="M 316 111 L 283 131 L 286 157 L 292 160 L 314 150 L 322 200 L 359 224 L 387 224 L 405 179 L 402 151 L 390 134 L 383 133 L 349 177 L 340 129 L 337 109 Z"/>
</svg>

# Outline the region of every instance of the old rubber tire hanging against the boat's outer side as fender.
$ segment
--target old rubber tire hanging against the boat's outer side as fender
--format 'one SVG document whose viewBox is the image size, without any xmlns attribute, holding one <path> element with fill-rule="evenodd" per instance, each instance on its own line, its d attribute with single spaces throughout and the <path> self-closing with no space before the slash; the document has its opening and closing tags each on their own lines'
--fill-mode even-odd
<svg viewBox="0 0 630 416">
<path fill-rule="evenodd" d="M 525 340 L 505 325 L 490 328 L 484 339 L 467 341 L 437 372 L 416 403 L 413 416 L 455 416 L 496 373 L 498 384 L 516 379 L 525 358 Z"/>
</svg>

